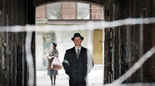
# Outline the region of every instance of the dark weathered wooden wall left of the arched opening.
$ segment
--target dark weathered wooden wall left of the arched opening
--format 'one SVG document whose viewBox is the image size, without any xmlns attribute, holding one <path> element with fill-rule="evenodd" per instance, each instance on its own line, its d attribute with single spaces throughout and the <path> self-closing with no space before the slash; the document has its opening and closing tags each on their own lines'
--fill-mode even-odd
<svg viewBox="0 0 155 86">
<path fill-rule="evenodd" d="M 34 24 L 34 13 L 31 0 L 0 0 L 0 26 Z M 26 32 L 0 32 L 0 86 L 27 86 L 25 37 Z M 33 56 L 34 49 L 32 41 Z"/>
</svg>

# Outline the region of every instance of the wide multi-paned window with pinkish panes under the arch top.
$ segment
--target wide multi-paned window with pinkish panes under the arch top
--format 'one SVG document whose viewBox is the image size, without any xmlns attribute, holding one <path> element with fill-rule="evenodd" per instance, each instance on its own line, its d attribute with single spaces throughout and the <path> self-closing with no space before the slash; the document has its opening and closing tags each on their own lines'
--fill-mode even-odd
<svg viewBox="0 0 155 86">
<path fill-rule="evenodd" d="M 47 4 L 42 8 L 37 7 L 37 9 L 40 10 L 36 10 L 36 17 L 46 18 L 48 20 L 103 19 L 103 7 L 86 3 L 59 2 L 59 3 Z M 40 17 L 40 15 L 45 15 L 46 17 Z"/>
</svg>

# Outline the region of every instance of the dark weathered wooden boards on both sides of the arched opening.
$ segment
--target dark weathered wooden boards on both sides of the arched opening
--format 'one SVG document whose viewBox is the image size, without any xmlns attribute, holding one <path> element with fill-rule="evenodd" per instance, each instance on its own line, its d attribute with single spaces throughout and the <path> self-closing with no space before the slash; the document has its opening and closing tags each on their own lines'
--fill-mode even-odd
<svg viewBox="0 0 155 86">
<path fill-rule="evenodd" d="M 0 26 L 34 24 L 35 6 L 55 1 L 61 0 L 0 0 Z M 103 5 L 105 7 L 106 21 L 128 17 L 155 17 L 154 0 L 68 1 Z M 106 28 L 104 83 L 110 83 L 120 77 L 147 50 L 155 45 L 154 32 L 153 24 Z M 35 57 L 34 34 L 31 45 L 33 57 Z M 28 70 L 25 60 L 25 35 L 24 32 L 0 32 L 0 86 L 27 86 Z M 33 60 L 35 63 L 35 58 Z M 155 56 L 152 56 L 124 83 L 155 82 L 154 61 Z"/>
</svg>

